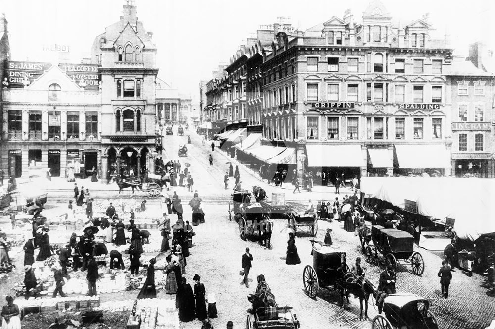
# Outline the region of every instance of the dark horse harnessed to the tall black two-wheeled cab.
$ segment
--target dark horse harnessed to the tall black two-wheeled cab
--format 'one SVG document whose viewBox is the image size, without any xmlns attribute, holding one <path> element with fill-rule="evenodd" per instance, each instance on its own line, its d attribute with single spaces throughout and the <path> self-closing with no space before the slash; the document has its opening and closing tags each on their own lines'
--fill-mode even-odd
<svg viewBox="0 0 495 329">
<path fill-rule="evenodd" d="M 344 296 L 347 298 L 347 304 L 349 303 L 349 294 L 352 293 L 355 297 L 359 298 L 359 306 L 361 313 L 359 320 L 363 320 L 363 300 L 365 301 L 364 316 L 368 317 L 368 300 L 371 294 L 375 292 L 375 286 L 363 276 L 355 276 L 354 274 L 347 272 L 345 279 L 339 282 L 339 290 L 341 293 L 341 304 L 344 306 Z"/>
</svg>

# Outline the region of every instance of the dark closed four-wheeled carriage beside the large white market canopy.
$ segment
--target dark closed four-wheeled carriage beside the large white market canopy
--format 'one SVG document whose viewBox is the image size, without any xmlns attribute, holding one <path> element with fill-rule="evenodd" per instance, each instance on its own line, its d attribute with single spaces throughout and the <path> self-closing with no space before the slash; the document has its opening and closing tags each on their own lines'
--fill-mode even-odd
<svg viewBox="0 0 495 329">
<path fill-rule="evenodd" d="M 416 275 L 423 274 L 425 263 L 423 256 L 414 251 L 414 237 L 396 228 L 385 228 L 380 225 L 371 227 L 371 240 L 365 248 L 366 261 L 379 265 L 378 253 L 385 257 L 385 264 L 392 265 L 397 271 L 397 260 L 403 260 L 411 264 L 412 272 Z"/>
</svg>

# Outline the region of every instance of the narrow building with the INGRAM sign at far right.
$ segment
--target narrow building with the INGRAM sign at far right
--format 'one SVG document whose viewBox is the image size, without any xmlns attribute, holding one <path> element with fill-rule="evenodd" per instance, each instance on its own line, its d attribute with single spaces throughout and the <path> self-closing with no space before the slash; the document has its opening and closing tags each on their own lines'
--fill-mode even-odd
<svg viewBox="0 0 495 329">
<path fill-rule="evenodd" d="M 494 178 L 494 58 L 486 45 L 454 58 L 447 84 L 452 109 L 452 175 Z"/>
</svg>

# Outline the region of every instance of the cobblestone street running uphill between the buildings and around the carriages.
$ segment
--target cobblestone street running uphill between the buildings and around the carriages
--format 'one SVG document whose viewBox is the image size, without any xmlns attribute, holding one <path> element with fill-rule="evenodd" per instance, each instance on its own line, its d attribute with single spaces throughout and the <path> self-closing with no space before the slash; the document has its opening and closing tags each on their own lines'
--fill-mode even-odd
<svg viewBox="0 0 495 329">
<path fill-rule="evenodd" d="M 172 136 L 165 138 L 165 149 L 167 155 L 176 154 L 177 146 L 170 145 L 184 144 L 181 137 Z M 301 227 L 297 231 L 296 245 L 301 264 L 286 265 L 285 252 L 287 247 L 287 235 L 283 232 L 287 222 L 283 219 L 274 219 L 274 233 L 272 238 L 272 249 L 268 250 L 260 246 L 256 239 L 243 241 L 239 237 L 238 224 L 228 217 L 228 201 L 231 190 L 223 189 L 223 173 L 228 164 L 227 159 L 222 151 L 213 152 L 215 165 L 207 164 L 208 154 L 211 148 L 200 145 L 200 138 L 193 136 L 193 145 L 189 145 L 188 158 L 181 158 L 182 162 L 190 162 L 190 170 L 195 178 L 195 190 L 204 198 L 203 210 L 206 213 L 206 223 L 194 227 L 196 236 L 194 237 L 194 247 L 190 249 L 191 256 L 187 259 L 186 277 L 193 284 L 194 274 L 199 274 L 202 282 L 206 287 L 206 292 L 216 294 L 218 318 L 212 319 L 215 328 L 224 328 L 227 321 L 232 320 L 234 328 L 244 328 L 247 317 L 247 309 L 251 304 L 247 300 L 247 295 L 253 293 L 256 284 L 256 276 L 264 274 L 275 299 L 279 306 L 291 306 L 297 318 L 301 322 L 302 328 L 352 328 L 362 329 L 370 328 L 369 321 L 359 320 L 359 300 L 350 296 L 350 304 L 344 303 L 340 306 L 340 295 L 337 291 L 320 288 L 316 299 L 309 298 L 305 291 L 302 281 L 302 272 L 306 265 L 313 265 L 313 259 L 310 255 L 311 243 L 306 227 Z M 168 158 L 175 159 L 170 156 Z M 241 180 L 243 187 L 250 189 L 252 185 L 259 184 L 255 177 L 250 175 L 244 167 L 240 167 Z M 265 183 L 262 183 L 267 185 Z M 96 191 L 101 195 L 101 199 L 113 198 L 115 185 L 101 185 L 102 189 Z M 94 190 L 98 186 L 95 185 Z M 266 186 L 267 191 L 275 187 Z M 184 219 L 191 219 L 191 210 L 187 206 L 187 201 L 192 197 L 183 187 L 175 187 L 171 190 L 177 191 L 184 204 Z M 278 189 L 280 190 L 280 189 Z M 285 190 L 286 193 L 288 189 Z M 95 193 L 96 193 L 95 192 Z M 172 192 L 170 192 L 172 193 Z M 304 192 L 304 197 L 311 198 L 312 194 Z M 334 198 L 332 193 L 327 193 L 326 200 Z M 270 194 L 267 193 L 269 196 Z M 63 199 L 61 193 L 57 198 Z M 67 195 L 67 200 L 70 194 Z M 129 198 L 124 195 L 122 198 Z M 142 196 L 135 196 L 134 199 L 141 199 Z M 299 195 L 287 193 L 286 198 L 297 202 L 303 207 L 307 200 Z M 316 199 L 316 198 L 313 198 Z M 65 204 L 55 205 L 50 211 L 63 211 Z M 160 216 L 159 203 L 156 200 L 149 200 L 148 212 Z M 172 215 L 172 222 L 175 220 Z M 7 219 L 4 219 L 4 222 Z M 137 222 L 139 223 L 139 221 Z M 352 232 L 343 229 L 343 223 L 333 221 L 318 222 L 317 240 L 323 240 L 326 228 L 332 228 L 332 237 L 334 247 L 347 253 L 347 263 L 351 266 L 356 257 L 363 258 L 363 264 L 368 267 L 366 276 L 376 286 L 380 271 L 383 267 L 367 264 L 361 254 L 359 239 Z M 158 230 L 150 230 L 152 241 L 159 241 Z M 51 234 L 53 234 L 52 232 Z M 68 236 L 70 232 L 61 232 L 62 235 Z M 50 237 L 51 239 L 51 237 Z M 55 237 L 53 237 L 55 239 Z M 249 274 L 251 285 L 246 288 L 240 284 L 242 278 L 239 276 L 241 269 L 241 255 L 244 249 L 249 247 L 254 257 L 253 268 Z M 109 248 L 110 249 L 110 248 Z M 418 249 L 425 260 L 425 272 L 419 277 L 412 274 L 410 266 L 403 264 L 399 266 L 397 274 L 397 291 L 416 293 L 431 301 L 431 310 L 437 316 L 440 328 L 443 329 L 481 329 L 488 326 L 495 313 L 495 303 L 493 297 L 487 295 L 487 291 L 482 287 L 483 277 L 474 274 L 468 277 L 460 270 L 453 273 L 451 292 L 448 299 L 440 298 L 440 283 L 437 276 L 441 259 L 422 249 Z M 144 260 L 151 258 L 153 254 L 145 254 Z M 22 253 L 17 257 L 22 261 Z M 383 261 L 383 258 L 379 256 Z M 2 294 L 7 293 L 7 287 L 10 283 L 20 279 L 21 266 L 19 265 L 16 274 L 1 282 Z M 101 301 L 115 300 L 133 300 L 137 291 L 124 293 L 101 294 Z M 165 295 L 163 291 L 158 294 L 160 298 L 175 298 L 175 296 Z M 372 319 L 377 314 L 374 300 L 369 302 L 368 315 Z M 200 322 L 195 320 L 190 323 L 182 324 L 185 329 L 197 329 Z"/>
</svg>

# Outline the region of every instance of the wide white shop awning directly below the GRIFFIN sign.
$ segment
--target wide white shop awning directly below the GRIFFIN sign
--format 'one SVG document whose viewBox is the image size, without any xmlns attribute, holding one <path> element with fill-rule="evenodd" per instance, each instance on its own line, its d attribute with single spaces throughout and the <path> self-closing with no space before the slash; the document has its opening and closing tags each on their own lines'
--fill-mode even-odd
<svg viewBox="0 0 495 329">
<path fill-rule="evenodd" d="M 306 144 L 310 167 L 362 167 L 361 145 Z"/>
</svg>

